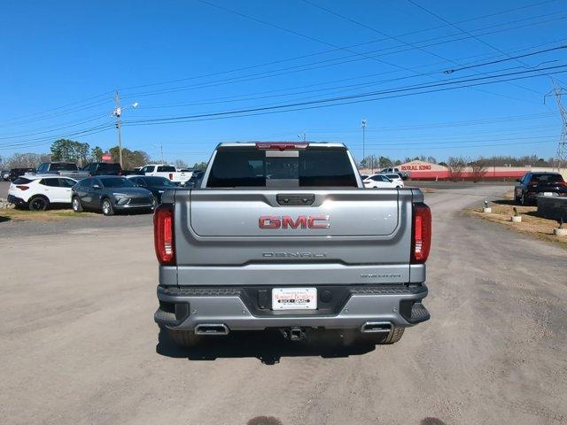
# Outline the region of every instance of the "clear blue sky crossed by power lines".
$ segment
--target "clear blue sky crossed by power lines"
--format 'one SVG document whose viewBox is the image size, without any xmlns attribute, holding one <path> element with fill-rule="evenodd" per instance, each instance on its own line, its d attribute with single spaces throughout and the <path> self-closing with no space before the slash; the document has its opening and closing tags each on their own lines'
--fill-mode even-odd
<svg viewBox="0 0 567 425">
<path fill-rule="evenodd" d="M 0 156 L 113 147 L 118 91 L 124 146 L 169 162 L 304 137 L 359 159 L 550 158 L 566 20 L 562 0 L 6 0 Z"/>
</svg>

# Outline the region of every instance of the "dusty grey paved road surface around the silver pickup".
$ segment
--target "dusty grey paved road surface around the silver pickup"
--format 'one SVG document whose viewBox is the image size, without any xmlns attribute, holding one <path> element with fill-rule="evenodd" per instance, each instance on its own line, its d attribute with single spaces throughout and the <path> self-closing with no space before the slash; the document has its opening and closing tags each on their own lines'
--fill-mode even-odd
<svg viewBox="0 0 567 425">
<path fill-rule="evenodd" d="M 175 349 L 152 321 L 151 228 L 82 228 L 0 244 L 4 423 L 555 424 L 567 422 L 565 251 L 427 196 L 431 321 L 399 344 L 273 335 Z M 1 231 L 1 229 L 0 229 Z"/>
</svg>

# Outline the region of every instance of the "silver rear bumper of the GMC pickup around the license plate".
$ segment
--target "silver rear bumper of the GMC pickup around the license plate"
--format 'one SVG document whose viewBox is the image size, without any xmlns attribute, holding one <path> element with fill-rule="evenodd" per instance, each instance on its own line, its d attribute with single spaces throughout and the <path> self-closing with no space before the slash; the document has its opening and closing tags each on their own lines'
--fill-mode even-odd
<svg viewBox="0 0 567 425">
<path fill-rule="evenodd" d="M 258 308 L 250 288 L 158 287 L 159 309 L 154 320 L 167 328 L 193 330 L 199 324 L 223 324 L 230 330 L 265 328 L 361 328 L 366 322 L 389 322 L 408 327 L 427 321 L 421 304 L 425 285 L 344 286 L 344 299 L 333 308 L 305 313 L 275 312 Z M 318 293 L 322 291 L 318 288 Z M 269 290 L 271 297 L 271 290 Z"/>
</svg>

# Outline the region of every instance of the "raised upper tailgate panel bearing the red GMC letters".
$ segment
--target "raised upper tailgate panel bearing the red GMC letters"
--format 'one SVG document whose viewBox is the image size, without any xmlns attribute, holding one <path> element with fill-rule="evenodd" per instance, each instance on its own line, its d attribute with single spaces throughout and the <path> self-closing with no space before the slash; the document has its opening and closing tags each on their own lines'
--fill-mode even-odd
<svg viewBox="0 0 567 425">
<path fill-rule="evenodd" d="M 313 203 L 285 202 L 304 199 Z M 205 238 L 389 236 L 400 223 L 399 202 L 395 190 L 199 190 L 190 196 L 188 225 L 195 236 Z M 310 217 L 319 218 L 313 219 L 311 228 Z"/>
</svg>

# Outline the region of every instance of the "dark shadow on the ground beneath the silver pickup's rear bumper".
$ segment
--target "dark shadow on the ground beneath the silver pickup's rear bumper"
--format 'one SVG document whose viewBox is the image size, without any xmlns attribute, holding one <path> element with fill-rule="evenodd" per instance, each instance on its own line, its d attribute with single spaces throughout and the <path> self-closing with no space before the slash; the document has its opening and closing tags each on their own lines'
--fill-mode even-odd
<svg viewBox="0 0 567 425">
<path fill-rule="evenodd" d="M 304 341 L 289 341 L 276 330 L 232 332 L 228 336 L 209 336 L 198 348 L 180 348 L 159 331 L 156 352 L 175 359 L 214 360 L 256 358 L 266 365 L 279 363 L 282 357 L 344 358 L 375 350 L 374 344 L 353 343 L 338 333 L 317 332 Z"/>
</svg>

